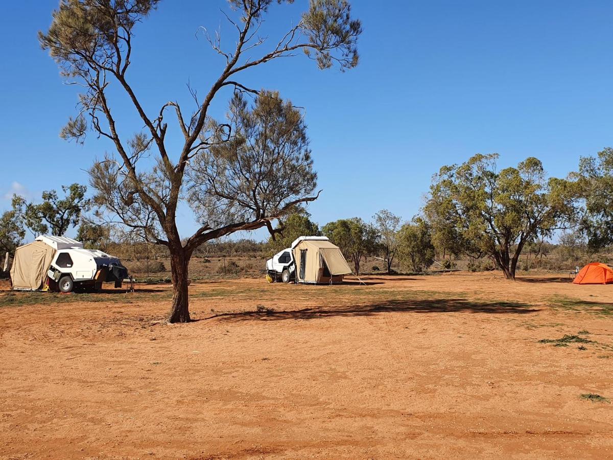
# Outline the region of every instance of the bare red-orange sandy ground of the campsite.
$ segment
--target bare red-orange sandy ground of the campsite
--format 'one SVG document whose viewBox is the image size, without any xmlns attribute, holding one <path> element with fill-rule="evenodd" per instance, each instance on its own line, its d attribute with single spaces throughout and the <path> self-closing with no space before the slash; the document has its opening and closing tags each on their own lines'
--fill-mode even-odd
<svg viewBox="0 0 613 460">
<path fill-rule="evenodd" d="M 189 324 L 167 285 L 2 307 L 0 458 L 613 457 L 613 404 L 579 397 L 613 401 L 613 316 L 555 307 L 613 286 L 365 281 L 193 283 Z"/>
</svg>

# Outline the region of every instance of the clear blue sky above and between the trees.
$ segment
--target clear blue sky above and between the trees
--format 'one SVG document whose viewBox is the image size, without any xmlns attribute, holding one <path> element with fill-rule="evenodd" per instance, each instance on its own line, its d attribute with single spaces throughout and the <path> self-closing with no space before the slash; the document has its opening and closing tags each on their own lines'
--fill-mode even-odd
<svg viewBox="0 0 613 460">
<path fill-rule="evenodd" d="M 564 176 L 579 156 L 613 145 L 610 1 L 351 3 L 364 24 L 356 69 L 319 71 L 300 56 L 242 78 L 306 108 L 324 190 L 310 206 L 319 224 L 369 220 L 383 208 L 411 218 L 431 175 L 474 153 L 498 152 L 501 166 L 537 156 L 551 175 Z M 57 4 L 9 2 L 0 18 L 0 209 L 13 190 L 36 197 L 87 183 L 83 170 L 112 150 L 93 135 L 83 146 L 58 137 L 75 113 L 77 88 L 63 85 L 36 37 Z M 272 7 L 271 42 L 306 4 Z M 221 61 L 197 29 L 221 23 L 224 42 L 234 39 L 218 7 L 225 2 L 166 0 L 138 26 L 129 79 L 150 115 L 169 100 L 188 105 L 188 80 L 207 91 Z M 125 134 L 142 128 L 128 104 L 115 105 Z M 186 210 L 180 228 L 185 236 L 195 228 Z"/>
</svg>

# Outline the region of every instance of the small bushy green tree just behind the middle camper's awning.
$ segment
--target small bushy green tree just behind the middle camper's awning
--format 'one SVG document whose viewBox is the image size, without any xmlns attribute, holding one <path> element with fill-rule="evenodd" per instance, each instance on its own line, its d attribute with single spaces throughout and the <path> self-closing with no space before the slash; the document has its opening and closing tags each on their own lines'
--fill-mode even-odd
<svg viewBox="0 0 613 460">
<path fill-rule="evenodd" d="M 362 258 L 374 253 L 379 242 L 375 227 L 359 217 L 327 223 L 321 231 L 353 262 L 356 275 L 360 274 Z"/>
</svg>

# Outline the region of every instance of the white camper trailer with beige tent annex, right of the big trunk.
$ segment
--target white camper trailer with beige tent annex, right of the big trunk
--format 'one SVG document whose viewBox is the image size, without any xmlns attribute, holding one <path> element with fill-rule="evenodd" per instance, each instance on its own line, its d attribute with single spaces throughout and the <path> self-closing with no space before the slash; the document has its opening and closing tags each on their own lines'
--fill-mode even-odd
<svg viewBox="0 0 613 460">
<path fill-rule="evenodd" d="M 325 236 L 301 236 L 266 261 L 270 282 L 332 284 L 351 274 L 343 253 Z"/>
</svg>

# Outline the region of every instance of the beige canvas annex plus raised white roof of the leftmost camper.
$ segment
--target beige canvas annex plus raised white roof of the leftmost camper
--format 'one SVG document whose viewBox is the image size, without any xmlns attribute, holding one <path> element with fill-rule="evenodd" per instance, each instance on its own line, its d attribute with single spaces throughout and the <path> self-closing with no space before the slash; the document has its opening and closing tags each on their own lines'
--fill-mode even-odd
<svg viewBox="0 0 613 460">
<path fill-rule="evenodd" d="M 34 242 L 18 247 L 10 269 L 13 289 L 42 289 L 56 251 L 72 247 L 82 248 L 83 244 L 70 238 L 47 235 L 39 236 Z"/>
</svg>

